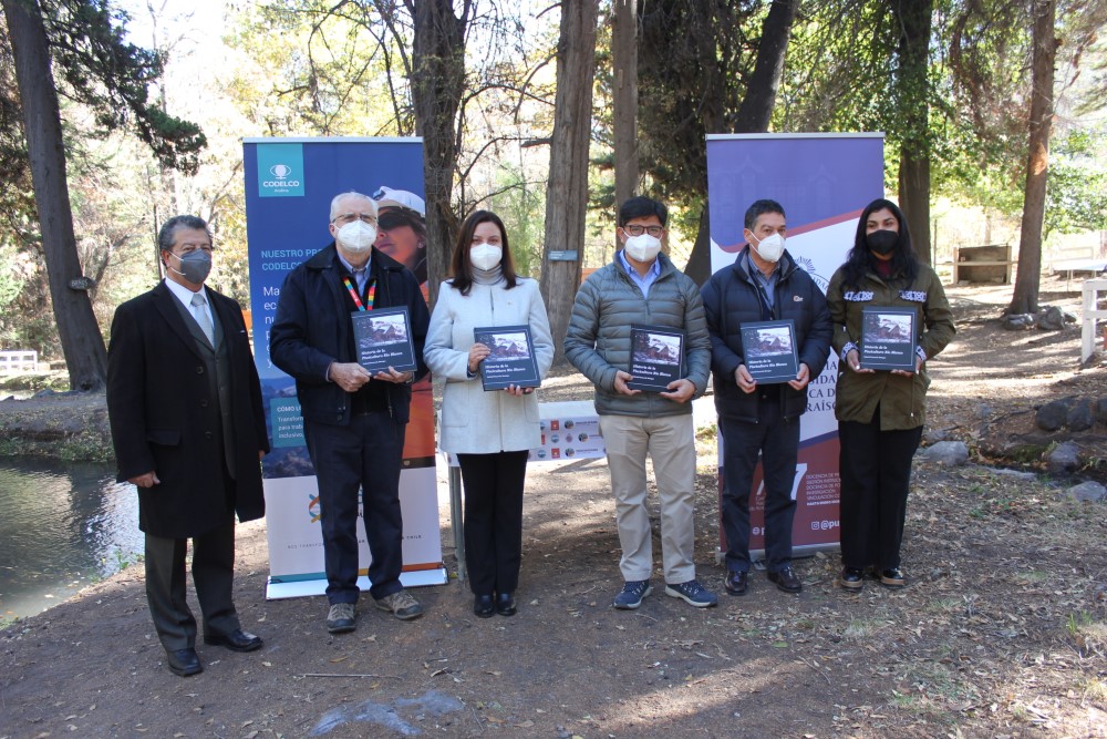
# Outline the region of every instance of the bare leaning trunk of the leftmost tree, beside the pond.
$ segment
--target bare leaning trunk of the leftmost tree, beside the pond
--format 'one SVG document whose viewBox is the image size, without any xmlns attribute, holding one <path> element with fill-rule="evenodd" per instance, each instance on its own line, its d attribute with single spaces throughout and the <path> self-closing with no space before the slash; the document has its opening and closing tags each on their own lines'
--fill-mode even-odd
<svg viewBox="0 0 1107 739">
<path fill-rule="evenodd" d="M 70 288 L 81 275 L 73 236 L 65 150 L 50 48 L 38 0 L 2 0 L 15 80 L 23 112 L 23 135 L 31 161 L 34 203 L 50 280 L 58 338 L 72 390 L 100 390 L 107 377 L 107 350 L 84 290 Z"/>
</svg>

